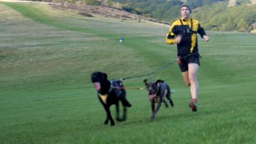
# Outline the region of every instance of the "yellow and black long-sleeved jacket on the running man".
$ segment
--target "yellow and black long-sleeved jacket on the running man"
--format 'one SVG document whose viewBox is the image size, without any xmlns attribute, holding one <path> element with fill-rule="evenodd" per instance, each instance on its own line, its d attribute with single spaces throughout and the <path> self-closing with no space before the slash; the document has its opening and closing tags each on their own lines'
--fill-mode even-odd
<svg viewBox="0 0 256 144">
<path fill-rule="evenodd" d="M 179 19 L 173 22 L 166 34 L 166 43 L 176 44 L 175 36 L 182 35 L 180 44 L 177 44 L 178 56 L 187 56 L 198 52 L 196 33 L 199 33 L 202 38 L 206 35 L 198 20 Z"/>
</svg>

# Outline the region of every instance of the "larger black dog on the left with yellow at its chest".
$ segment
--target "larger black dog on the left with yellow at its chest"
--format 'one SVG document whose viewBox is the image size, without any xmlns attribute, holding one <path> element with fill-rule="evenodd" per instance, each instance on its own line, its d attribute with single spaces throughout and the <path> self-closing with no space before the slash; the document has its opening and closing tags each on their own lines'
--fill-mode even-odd
<svg viewBox="0 0 256 144">
<path fill-rule="evenodd" d="M 131 104 L 125 98 L 125 89 L 122 81 L 111 80 L 108 81 L 107 74 L 103 72 L 93 72 L 92 74 L 92 83 L 94 83 L 95 89 L 98 92 L 98 97 L 100 102 L 102 103 L 104 109 L 107 113 L 107 118 L 104 124 L 108 124 L 108 120 L 110 120 L 111 126 L 115 125 L 115 122 L 111 116 L 109 107 L 112 104 L 116 105 L 116 120 L 125 121 L 126 120 L 126 107 L 131 107 Z M 119 117 L 119 100 L 122 102 L 124 106 L 124 115 L 123 118 Z"/>
</svg>

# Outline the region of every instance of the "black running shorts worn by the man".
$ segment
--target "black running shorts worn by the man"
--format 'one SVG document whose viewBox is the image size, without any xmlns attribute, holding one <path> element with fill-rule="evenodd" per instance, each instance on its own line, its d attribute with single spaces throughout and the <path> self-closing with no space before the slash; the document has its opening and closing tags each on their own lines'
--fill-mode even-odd
<svg viewBox="0 0 256 144">
<path fill-rule="evenodd" d="M 181 72 L 188 71 L 189 63 L 197 63 L 200 65 L 199 57 L 199 54 L 192 54 L 191 56 L 185 56 L 185 58 L 179 58 L 179 67 Z"/>
</svg>

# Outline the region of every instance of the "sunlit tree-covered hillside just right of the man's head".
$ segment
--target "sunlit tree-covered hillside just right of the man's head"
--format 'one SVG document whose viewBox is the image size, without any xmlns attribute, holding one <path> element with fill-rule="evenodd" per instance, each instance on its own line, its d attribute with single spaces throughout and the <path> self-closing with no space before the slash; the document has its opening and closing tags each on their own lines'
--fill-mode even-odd
<svg viewBox="0 0 256 144">
<path fill-rule="evenodd" d="M 241 4 L 227 8 L 225 3 L 214 3 L 196 9 L 193 17 L 199 19 L 205 29 L 214 31 L 250 32 L 256 29 L 256 5 Z"/>
</svg>

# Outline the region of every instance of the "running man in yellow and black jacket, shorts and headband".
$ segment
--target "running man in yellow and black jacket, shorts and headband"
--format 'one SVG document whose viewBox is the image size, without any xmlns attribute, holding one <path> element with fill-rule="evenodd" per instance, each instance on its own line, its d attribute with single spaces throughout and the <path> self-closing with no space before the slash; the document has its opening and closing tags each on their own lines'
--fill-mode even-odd
<svg viewBox="0 0 256 144">
<path fill-rule="evenodd" d="M 180 6 L 181 19 L 173 22 L 166 35 L 166 43 L 177 44 L 179 67 L 186 85 L 190 86 L 191 102 L 189 102 L 189 107 L 192 111 L 197 111 L 199 91 L 197 72 L 200 55 L 196 33 L 199 33 L 205 42 L 208 42 L 210 38 L 206 35 L 204 28 L 200 26 L 199 21 L 190 18 L 191 12 L 188 4 Z"/>
</svg>

